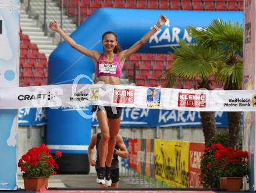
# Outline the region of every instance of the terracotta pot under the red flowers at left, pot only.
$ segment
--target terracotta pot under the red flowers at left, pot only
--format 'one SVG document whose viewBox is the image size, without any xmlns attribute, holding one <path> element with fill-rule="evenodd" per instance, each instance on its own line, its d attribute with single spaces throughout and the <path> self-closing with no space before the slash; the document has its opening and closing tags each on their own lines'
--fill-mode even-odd
<svg viewBox="0 0 256 193">
<path fill-rule="evenodd" d="M 48 177 L 23 177 L 26 191 L 39 191 L 42 187 L 48 187 Z"/>
</svg>

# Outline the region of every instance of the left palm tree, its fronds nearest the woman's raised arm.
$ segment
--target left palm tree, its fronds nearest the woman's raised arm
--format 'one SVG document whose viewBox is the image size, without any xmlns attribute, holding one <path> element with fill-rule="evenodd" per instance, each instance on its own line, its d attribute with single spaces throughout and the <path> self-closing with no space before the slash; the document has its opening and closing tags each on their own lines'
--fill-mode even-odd
<svg viewBox="0 0 256 193">
<path fill-rule="evenodd" d="M 218 67 L 223 65 L 223 55 L 195 43 L 187 44 L 180 41 L 179 45 L 179 48 L 173 48 L 175 60 L 167 72 L 167 85 L 170 87 L 176 85 L 179 78 L 182 80 L 200 78 L 199 88 L 210 90 L 209 77 L 218 72 Z M 215 116 L 214 112 L 200 112 L 200 116 L 207 146 L 208 141 L 215 134 Z"/>
</svg>

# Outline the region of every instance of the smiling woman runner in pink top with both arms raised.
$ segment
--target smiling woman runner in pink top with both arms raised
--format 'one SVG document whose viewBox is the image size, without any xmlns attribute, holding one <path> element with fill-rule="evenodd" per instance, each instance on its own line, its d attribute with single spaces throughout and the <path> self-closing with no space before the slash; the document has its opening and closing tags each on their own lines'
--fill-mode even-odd
<svg viewBox="0 0 256 193">
<path fill-rule="evenodd" d="M 70 38 L 58 25 L 57 22 L 53 21 L 49 23 L 49 28 L 56 31 L 61 35 L 63 40 L 70 45 L 70 47 L 83 53 L 84 55 L 91 58 L 94 62 L 96 69 L 96 76 L 98 81 L 103 81 L 105 84 L 118 85 L 122 73 L 123 65 L 125 60 L 129 56 L 135 53 L 150 37 L 159 30 L 163 24 L 165 24 L 167 18 L 165 15 L 159 16 L 157 24 L 151 28 L 140 40 L 135 42 L 130 48 L 121 51 L 118 44 L 118 38 L 112 31 L 106 31 L 102 35 L 102 45 L 104 48 L 103 53 L 98 51 L 87 49 L 75 42 Z M 111 63 L 112 67 L 108 67 Z M 116 135 L 119 131 L 120 117 L 122 108 L 111 108 L 111 106 L 93 106 L 93 112 L 97 112 L 97 119 L 99 128 L 101 129 L 101 141 L 99 142 L 99 173 L 97 177 L 97 183 L 111 185 L 111 160 L 113 150 L 115 146 Z M 114 111 L 114 112 L 113 112 Z"/>
</svg>

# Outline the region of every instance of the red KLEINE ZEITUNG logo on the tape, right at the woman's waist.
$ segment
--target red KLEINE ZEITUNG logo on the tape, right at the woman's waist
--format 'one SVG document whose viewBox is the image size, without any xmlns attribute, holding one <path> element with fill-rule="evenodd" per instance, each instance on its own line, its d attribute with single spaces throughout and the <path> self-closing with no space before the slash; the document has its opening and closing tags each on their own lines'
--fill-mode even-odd
<svg viewBox="0 0 256 193">
<path fill-rule="evenodd" d="M 114 103 L 134 103 L 134 90 L 114 89 Z"/>
</svg>

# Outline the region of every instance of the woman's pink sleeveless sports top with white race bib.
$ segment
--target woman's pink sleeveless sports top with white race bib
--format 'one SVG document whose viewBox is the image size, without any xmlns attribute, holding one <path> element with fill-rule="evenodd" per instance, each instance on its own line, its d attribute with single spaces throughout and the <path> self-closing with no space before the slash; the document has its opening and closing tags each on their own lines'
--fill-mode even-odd
<svg viewBox="0 0 256 193">
<path fill-rule="evenodd" d="M 106 61 L 103 58 L 103 53 L 99 56 L 96 67 L 96 76 L 115 76 L 121 77 L 122 67 L 118 60 L 118 55 L 114 54 L 114 59 L 112 62 Z"/>
</svg>

